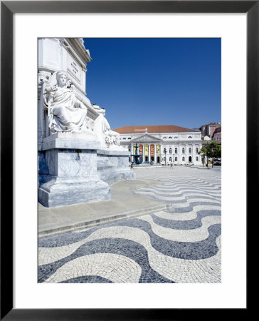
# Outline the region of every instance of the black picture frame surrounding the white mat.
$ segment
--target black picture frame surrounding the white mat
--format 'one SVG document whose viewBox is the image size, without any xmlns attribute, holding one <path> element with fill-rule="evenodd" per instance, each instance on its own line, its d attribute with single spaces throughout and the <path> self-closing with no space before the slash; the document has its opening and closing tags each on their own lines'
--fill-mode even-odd
<svg viewBox="0 0 259 321">
<path fill-rule="evenodd" d="M 216 309 L 13 308 L 13 16 L 16 13 L 246 13 L 247 217 L 258 198 L 259 1 L 1 1 L 1 320 L 189 320 Z M 6 76 L 8 75 L 8 76 Z M 249 126 L 248 126 L 249 125 Z M 253 179 L 253 180 L 252 180 Z M 247 247 L 249 248 L 249 247 Z M 238 282 L 238 280 L 237 280 Z M 247 297 L 248 298 L 248 297 Z M 248 299 L 247 299 L 248 300 Z M 247 317 L 246 309 L 236 309 Z M 233 310 L 223 310 L 233 317 Z"/>
</svg>

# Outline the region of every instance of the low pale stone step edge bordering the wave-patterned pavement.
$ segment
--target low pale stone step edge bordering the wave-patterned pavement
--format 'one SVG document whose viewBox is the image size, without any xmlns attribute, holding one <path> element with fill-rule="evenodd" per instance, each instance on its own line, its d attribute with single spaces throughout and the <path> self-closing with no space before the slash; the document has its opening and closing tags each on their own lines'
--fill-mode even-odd
<svg viewBox="0 0 259 321">
<path fill-rule="evenodd" d="M 152 213 L 157 213 L 162 210 L 169 210 L 172 206 L 170 204 L 162 204 L 156 206 L 149 206 L 147 208 L 140 208 L 139 210 L 134 211 L 125 211 L 121 213 L 112 213 L 107 216 L 98 215 L 95 220 L 85 220 L 81 223 L 71 224 L 60 226 L 58 228 L 50 228 L 46 230 L 39 230 L 38 231 L 38 238 L 48 238 L 50 236 L 59 235 L 62 233 L 68 232 L 75 232 L 79 230 L 85 230 L 85 228 L 93 228 L 94 226 L 105 224 L 105 223 L 112 223 L 118 220 L 122 220 L 125 218 L 134 218 L 137 216 L 148 215 Z"/>
</svg>

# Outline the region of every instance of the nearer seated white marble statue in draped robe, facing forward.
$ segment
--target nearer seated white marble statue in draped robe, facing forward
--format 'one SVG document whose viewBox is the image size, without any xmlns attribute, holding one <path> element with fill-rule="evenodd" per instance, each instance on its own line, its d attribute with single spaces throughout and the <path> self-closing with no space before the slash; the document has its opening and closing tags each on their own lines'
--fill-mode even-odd
<svg viewBox="0 0 259 321">
<path fill-rule="evenodd" d="M 48 127 L 51 133 L 85 131 L 88 109 L 75 97 L 68 74 L 65 71 L 54 73 L 49 85 L 52 86 L 44 88 L 43 102 L 48 110 Z"/>
</svg>

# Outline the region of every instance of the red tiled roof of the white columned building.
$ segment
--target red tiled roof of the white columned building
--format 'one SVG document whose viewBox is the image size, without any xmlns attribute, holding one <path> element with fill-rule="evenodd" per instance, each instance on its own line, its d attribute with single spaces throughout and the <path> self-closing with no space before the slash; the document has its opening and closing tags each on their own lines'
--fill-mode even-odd
<svg viewBox="0 0 259 321">
<path fill-rule="evenodd" d="M 185 133 L 185 132 L 195 132 L 194 129 L 174 126 L 174 125 L 153 125 L 153 126 L 124 126 L 120 128 L 112 129 L 117 133 L 145 133 L 145 128 L 147 128 L 147 133 Z M 139 131 L 142 129 L 143 131 Z M 137 131 L 136 131 L 137 130 Z M 200 131 L 196 131 L 200 132 Z"/>
</svg>

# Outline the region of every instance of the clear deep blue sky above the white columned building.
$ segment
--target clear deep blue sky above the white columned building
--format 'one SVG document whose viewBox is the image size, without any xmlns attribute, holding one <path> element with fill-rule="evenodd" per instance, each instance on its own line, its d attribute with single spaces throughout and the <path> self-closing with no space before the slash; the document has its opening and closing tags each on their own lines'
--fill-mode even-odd
<svg viewBox="0 0 259 321">
<path fill-rule="evenodd" d="M 111 128 L 221 123 L 221 39 L 85 38 L 86 92 Z"/>
</svg>

